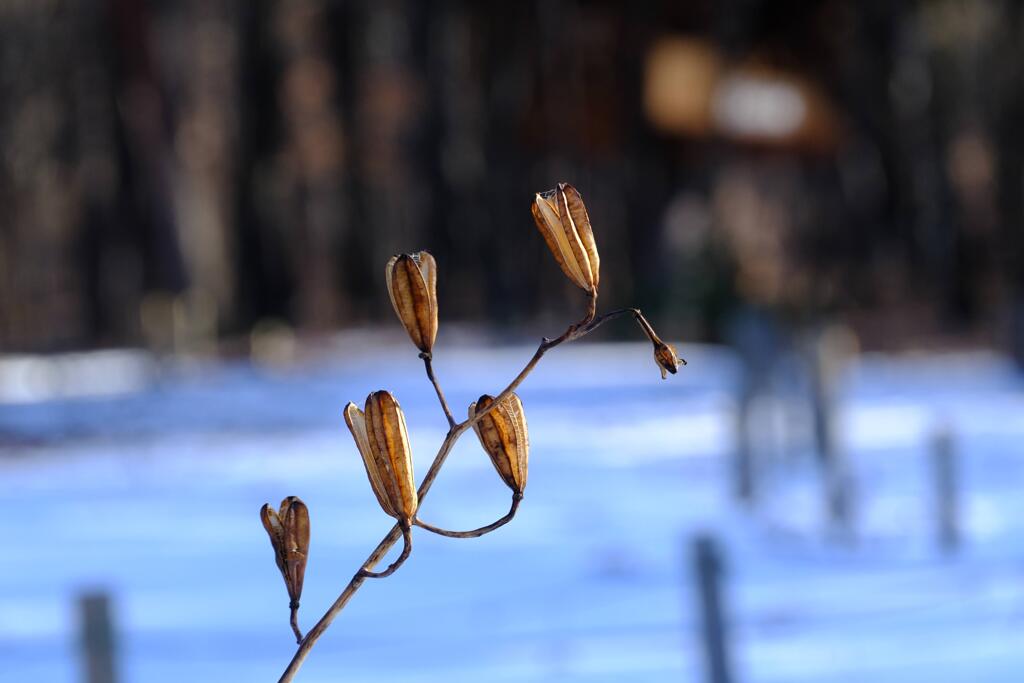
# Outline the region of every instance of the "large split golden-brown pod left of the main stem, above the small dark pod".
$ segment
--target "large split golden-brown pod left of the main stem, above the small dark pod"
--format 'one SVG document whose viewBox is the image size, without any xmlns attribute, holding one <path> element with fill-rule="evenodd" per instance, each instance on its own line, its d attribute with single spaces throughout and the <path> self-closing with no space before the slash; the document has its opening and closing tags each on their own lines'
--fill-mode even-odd
<svg viewBox="0 0 1024 683">
<path fill-rule="evenodd" d="M 367 396 L 365 412 L 355 403 L 345 407 L 345 424 L 362 456 L 381 509 L 399 521 L 411 522 L 418 501 L 406 416 L 398 401 L 388 391 L 375 391 Z"/>
</svg>

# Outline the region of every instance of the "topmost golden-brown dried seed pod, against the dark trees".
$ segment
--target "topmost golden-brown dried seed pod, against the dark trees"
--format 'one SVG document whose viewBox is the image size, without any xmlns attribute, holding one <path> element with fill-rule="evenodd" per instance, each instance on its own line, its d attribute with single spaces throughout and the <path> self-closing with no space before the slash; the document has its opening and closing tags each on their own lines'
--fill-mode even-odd
<svg viewBox="0 0 1024 683">
<path fill-rule="evenodd" d="M 555 189 L 538 193 L 531 211 L 537 228 L 562 271 L 579 288 L 596 294 L 601 259 L 587 207 L 577 188 L 560 182 Z"/>
</svg>

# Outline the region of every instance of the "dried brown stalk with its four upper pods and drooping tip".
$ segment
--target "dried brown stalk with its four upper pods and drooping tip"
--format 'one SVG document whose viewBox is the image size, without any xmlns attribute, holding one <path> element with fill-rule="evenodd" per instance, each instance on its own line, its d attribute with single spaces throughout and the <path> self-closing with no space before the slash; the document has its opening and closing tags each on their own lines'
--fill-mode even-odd
<svg viewBox="0 0 1024 683">
<path fill-rule="evenodd" d="M 608 321 L 631 314 L 654 346 L 654 360 L 662 371 L 663 379 L 667 372 L 675 373 L 679 365 L 685 364 L 685 360 L 676 355 L 672 346 L 657 337 L 639 309 L 622 308 L 603 315 L 597 314 L 600 260 L 590 218 L 580 193 L 571 185 L 559 183 L 555 189 L 538 194 L 531 210 L 537 226 L 558 265 L 572 283 L 589 295 L 587 312 L 583 319 L 568 326 L 560 336 L 554 339 L 542 339 L 534 355 L 509 385 L 497 396 L 492 397 L 486 394 L 481 396 L 470 407 L 469 417 L 462 422 L 456 421 L 432 367 L 433 342 L 437 333 L 434 259 L 427 252 L 419 252 L 395 256 L 388 262 L 386 275 L 391 303 L 410 339 L 420 349 L 427 378 L 433 385 L 437 400 L 447 419 L 449 432 L 419 488 L 414 490 L 412 454 L 406 433 L 404 417 L 394 397 L 387 391 L 378 391 L 367 398 L 365 411 L 359 411 L 352 403 L 345 408 L 345 422 L 355 438 L 374 494 L 384 512 L 397 521 L 359 566 L 334 604 L 309 630 L 305 638 L 301 639 L 279 683 L 289 683 L 295 678 L 313 645 L 368 578 L 390 575 L 404 562 L 412 551 L 413 525 L 446 537 L 467 539 L 489 533 L 515 517 L 526 485 L 529 441 L 522 403 L 514 391 L 534 371 L 545 353 L 556 346 L 590 334 Z M 459 438 L 471 428 L 476 431 L 483 450 L 502 480 L 512 489 L 512 505 L 509 512 L 490 524 L 469 531 L 450 531 L 419 520 L 417 512 L 444 465 L 449 453 Z M 398 539 L 403 539 L 404 542 L 398 558 L 385 570 L 374 571 L 374 567 L 384 559 Z"/>
</svg>

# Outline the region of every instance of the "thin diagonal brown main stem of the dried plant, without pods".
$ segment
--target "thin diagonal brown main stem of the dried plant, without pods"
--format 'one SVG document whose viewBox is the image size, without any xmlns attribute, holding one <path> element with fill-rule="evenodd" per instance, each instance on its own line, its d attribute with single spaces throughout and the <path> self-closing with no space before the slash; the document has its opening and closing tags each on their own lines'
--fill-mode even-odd
<svg viewBox="0 0 1024 683">
<path fill-rule="evenodd" d="M 443 394 L 441 393 L 440 390 L 440 386 L 437 384 L 436 380 L 433 377 L 433 372 L 432 369 L 430 368 L 429 358 L 424 358 L 424 362 L 426 364 L 427 367 L 427 376 L 434 384 L 434 389 L 437 391 L 437 396 L 441 400 L 442 408 L 445 408 L 444 413 L 446 416 L 449 416 L 451 428 L 449 429 L 447 435 L 444 437 L 444 441 L 441 442 L 441 446 L 437 451 L 437 455 L 434 456 L 434 462 L 430 464 L 430 469 L 427 470 L 426 476 L 423 477 L 423 482 L 420 483 L 420 488 L 417 492 L 417 495 L 421 503 L 424 497 L 426 497 L 427 492 L 430 490 L 430 486 L 433 485 L 434 479 L 437 478 L 437 474 L 440 472 L 441 466 L 444 465 L 444 461 L 447 459 L 449 453 L 452 451 L 452 447 L 455 445 L 456 441 L 459 440 L 459 437 L 462 436 L 467 429 L 476 424 L 477 421 L 482 419 L 483 416 L 485 416 L 487 413 L 489 413 L 498 405 L 500 405 L 501 402 L 505 400 L 505 398 L 507 398 L 510 393 L 515 391 L 516 388 L 518 388 L 518 386 L 522 383 L 522 381 L 526 379 L 529 373 L 532 372 L 534 368 L 537 367 L 537 364 L 540 362 L 541 358 L 544 357 L 544 354 L 547 353 L 550 349 L 558 346 L 563 342 L 574 341 L 577 339 L 580 339 L 581 337 L 590 334 L 591 332 L 596 330 L 598 327 L 600 327 L 607 321 L 614 319 L 615 317 L 618 317 L 620 315 L 623 315 L 625 313 L 633 313 L 634 316 L 637 318 L 638 323 L 642 321 L 641 327 L 644 328 L 645 333 L 647 333 L 647 330 L 650 328 L 650 325 L 647 324 L 646 319 L 643 319 L 643 315 L 641 315 L 640 311 L 636 308 L 623 308 L 598 316 L 596 314 L 596 306 L 597 306 L 597 294 L 594 293 L 590 297 L 587 315 L 585 315 L 582 321 L 573 325 L 570 325 L 565 330 L 565 332 L 563 332 L 559 337 L 556 337 L 555 339 L 545 338 L 541 340 L 540 345 L 538 345 L 537 347 L 537 351 L 534 352 L 534 356 L 526 362 L 525 367 L 523 367 L 523 369 L 519 372 L 519 374 L 515 376 L 515 379 L 513 379 L 512 382 L 507 387 L 505 387 L 505 389 L 503 389 L 502 392 L 498 394 L 497 397 L 495 397 L 490 405 L 488 405 L 484 410 L 478 411 L 476 415 L 474 415 L 472 418 L 464 420 L 463 422 L 458 422 L 458 423 L 454 422 L 454 419 L 451 417 L 451 411 L 446 410 L 447 404 L 444 401 Z M 651 330 L 651 332 L 653 331 Z M 299 643 L 299 647 L 296 650 L 295 655 L 292 657 L 292 660 L 288 665 L 288 669 L 286 669 L 285 673 L 282 674 L 281 679 L 279 679 L 278 683 L 290 683 L 295 678 L 295 675 L 298 673 L 299 668 L 302 666 L 302 663 L 305 661 L 306 656 L 309 654 L 309 650 L 312 649 L 312 646 L 316 643 L 319 637 L 324 635 L 324 632 L 327 631 L 328 627 L 331 626 L 331 623 L 335 620 L 335 617 L 341 612 L 342 609 L 345 608 L 345 605 L 348 604 L 348 601 L 352 598 L 352 595 L 354 595 L 355 592 L 359 590 L 359 587 L 362 586 L 362 582 L 366 581 L 367 578 L 366 572 L 372 570 L 373 567 L 376 566 L 376 564 L 381 561 L 384 555 L 387 554 L 388 550 L 390 550 L 391 547 L 394 546 L 394 544 L 398 541 L 399 538 L 401 538 L 401 536 L 402 536 L 401 525 L 395 524 L 394 526 L 391 527 L 391 530 L 388 531 L 388 535 L 385 536 L 384 539 L 379 544 L 377 544 L 377 547 L 374 549 L 372 553 L 370 553 L 370 557 L 367 558 L 367 561 L 362 563 L 361 567 L 359 567 L 359 570 L 355 573 L 354 577 L 352 577 L 352 580 L 348 582 L 348 586 L 345 587 L 345 590 L 341 592 L 341 595 L 339 595 L 338 598 L 334 601 L 334 604 L 332 604 L 328 608 L 324 616 L 321 617 L 321 620 L 316 623 L 316 625 L 312 629 L 310 629 L 309 632 L 306 634 L 306 637 L 302 639 L 302 642 Z"/>
</svg>

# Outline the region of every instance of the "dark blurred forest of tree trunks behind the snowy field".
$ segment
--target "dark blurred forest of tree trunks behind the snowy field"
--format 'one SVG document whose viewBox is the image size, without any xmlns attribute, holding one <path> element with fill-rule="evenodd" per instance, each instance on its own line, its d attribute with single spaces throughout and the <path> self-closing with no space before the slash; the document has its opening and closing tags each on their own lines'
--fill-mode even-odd
<svg viewBox="0 0 1024 683">
<path fill-rule="evenodd" d="M 424 248 L 442 317 L 561 319 L 568 180 L 670 336 L 1024 358 L 1021 121 L 1016 0 L 3 0 L 0 347 L 390 319 Z"/>
</svg>

